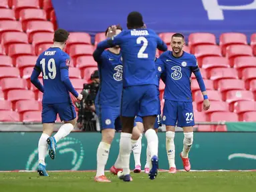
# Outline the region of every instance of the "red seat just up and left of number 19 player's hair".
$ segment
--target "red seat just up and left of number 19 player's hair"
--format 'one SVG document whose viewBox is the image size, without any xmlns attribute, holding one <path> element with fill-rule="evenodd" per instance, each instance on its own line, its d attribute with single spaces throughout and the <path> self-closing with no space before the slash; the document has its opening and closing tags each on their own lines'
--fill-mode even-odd
<svg viewBox="0 0 256 192">
<path fill-rule="evenodd" d="M 54 32 L 54 29 L 50 21 L 29 21 L 27 22 L 26 32 L 29 37 L 29 42 L 32 42 L 33 33 Z"/>
</svg>

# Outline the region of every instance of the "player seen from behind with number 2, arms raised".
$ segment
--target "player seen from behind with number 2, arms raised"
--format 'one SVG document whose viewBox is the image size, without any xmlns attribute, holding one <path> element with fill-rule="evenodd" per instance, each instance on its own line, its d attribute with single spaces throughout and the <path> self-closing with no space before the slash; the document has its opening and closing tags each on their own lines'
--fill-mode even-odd
<svg viewBox="0 0 256 192">
<path fill-rule="evenodd" d="M 121 104 L 122 133 L 120 179 L 130 181 L 130 151 L 134 117 L 142 114 L 146 139 L 152 157 L 149 177 L 154 179 L 158 172 L 158 137 L 154 122 L 158 115 L 157 77 L 155 70 L 156 48 L 166 51 L 166 44 L 151 29 L 145 29 L 142 15 L 132 12 L 127 18 L 128 30 L 98 43 L 96 51 L 119 45 L 123 58 L 123 91 Z M 116 26 L 112 27 L 116 33 Z"/>
</svg>

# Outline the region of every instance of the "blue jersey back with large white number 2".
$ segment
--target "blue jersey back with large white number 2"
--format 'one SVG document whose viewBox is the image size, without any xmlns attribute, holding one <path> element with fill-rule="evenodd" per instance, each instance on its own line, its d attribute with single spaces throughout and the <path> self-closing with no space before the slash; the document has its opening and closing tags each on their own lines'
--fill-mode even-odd
<svg viewBox="0 0 256 192">
<path fill-rule="evenodd" d="M 154 59 L 161 41 L 158 35 L 152 29 L 124 30 L 119 35 L 124 66 L 124 87 L 157 85 Z"/>
</svg>

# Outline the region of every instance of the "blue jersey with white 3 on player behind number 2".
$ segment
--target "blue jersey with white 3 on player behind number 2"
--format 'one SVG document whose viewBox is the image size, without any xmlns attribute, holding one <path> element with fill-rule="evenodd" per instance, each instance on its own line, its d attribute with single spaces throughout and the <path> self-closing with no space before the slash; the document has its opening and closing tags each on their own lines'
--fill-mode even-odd
<svg viewBox="0 0 256 192">
<path fill-rule="evenodd" d="M 120 107 L 122 96 L 122 57 L 108 50 L 98 58 L 100 88 L 96 96 L 96 105 Z"/>
</svg>

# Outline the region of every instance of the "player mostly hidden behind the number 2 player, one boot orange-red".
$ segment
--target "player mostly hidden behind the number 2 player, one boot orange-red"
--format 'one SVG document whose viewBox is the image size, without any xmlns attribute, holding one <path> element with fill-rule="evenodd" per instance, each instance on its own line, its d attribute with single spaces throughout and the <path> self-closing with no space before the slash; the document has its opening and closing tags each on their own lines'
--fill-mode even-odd
<svg viewBox="0 0 256 192">
<path fill-rule="evenodd" d="M 116 26 L 116 35 L 121 33 L 122 27 Z M 111 26 L 105 32 L 106 37 L 113 37 Z M 115 122 L 120 120 L 120 105 L 122 95 L 122 57 L 120 47 L 112 47 L 102 53 L 94 52 L 94 60 L 98 63 L 100 72 L 100 89 L 96 97 L 96 113 L 100 119 L 102 141 L 97 150 L 97 173 L 94 178 L 98 182 L 110 182 L 104 175 L 105 165 L 108 161 L 110 145 L 114 139 Z M 119 123 L 120 124 L 120 123 Z M 117 129 L 120 127 L 116 127 Z M 118 130 L 117 130 L 118 131 Z M 134 145 L 140 131 L 133 129 L 132 144 Z"/>
</svg>

